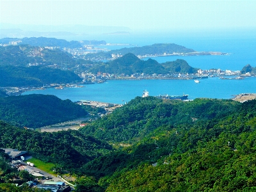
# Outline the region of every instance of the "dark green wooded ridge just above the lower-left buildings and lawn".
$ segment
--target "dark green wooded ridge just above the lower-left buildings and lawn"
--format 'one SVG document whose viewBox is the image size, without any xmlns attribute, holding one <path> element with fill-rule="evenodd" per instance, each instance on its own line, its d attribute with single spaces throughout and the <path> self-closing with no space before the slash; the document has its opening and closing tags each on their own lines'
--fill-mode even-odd
<svg viewBox="0 0 256 192">
<path fill-rule="evenodd" d="M 77 131 L 37 132 L 13 127 L 2 121 L 0 141 L 0 148 L 26 150 L 33 157 L 68 170 L 75 170 L 112 149 L 108 143 Z"/>
</svg>

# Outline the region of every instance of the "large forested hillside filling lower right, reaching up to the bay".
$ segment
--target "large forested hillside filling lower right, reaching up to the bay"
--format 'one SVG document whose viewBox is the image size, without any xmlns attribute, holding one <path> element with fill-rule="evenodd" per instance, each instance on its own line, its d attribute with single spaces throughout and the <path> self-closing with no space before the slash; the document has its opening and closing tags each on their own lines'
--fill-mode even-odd
<svg viewBox="0 0 256 192">
<path fill-rule="evenodd" d="M 138 97 L 81 129 L 134 143 L 81 171 L 106 191 L 255 191 L 255 121 L 256 100 Z"/>
</svg>

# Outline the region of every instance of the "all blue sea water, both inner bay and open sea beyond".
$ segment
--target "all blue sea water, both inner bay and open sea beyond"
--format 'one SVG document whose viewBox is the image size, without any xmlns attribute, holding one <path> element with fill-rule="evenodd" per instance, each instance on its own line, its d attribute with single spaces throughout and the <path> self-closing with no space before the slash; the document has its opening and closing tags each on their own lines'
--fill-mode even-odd
<svg viewBox="0 0 256 192">
<path fill-rule="evenodd" d="M 159 33 L 158 35 L 148 33 L 147 35 L 94 36 L 93 39 L 106 40 L 107 43 L 111 44 L 134 44 L 137 46 L 174 43 L 196 51 L 227 52 L 229 54 L 223 56 L 164 56 L 152 59 L 159 63 L 183 59 L 196 68 L 241 70 L 246 64 L 256 67 L 256 36 L 254 34 L 224 33 L 216 35 L 212 33 L 175 36 L 171 33 Z M 127 47 L 127 45 L 108 46 L 107 48 L 120 49 L 122 47 Z M 147 59 L 145 58 L 145 60 Z M 86 84 L 84 88 L 65 88 L 64 90 L 49 88 L 23 94 L 42 93 L 72 101 L 97 100 L 124 104 L 136 96 L 141 96 L 143 90 L 148 90 L 150 95 L 182 95 L 185 93 L 189 95 L 189 99 L 198 97 L 230 99 L 232 95 L 239 93 L 256 93 L 256 77 L 246 77 L 243 80 L 222 80 L 218 77 L 209 77 L 208 79 L 201 79 L 198 84 L 193 80 L 106 81 L 102 84 Z"/>
</svg>

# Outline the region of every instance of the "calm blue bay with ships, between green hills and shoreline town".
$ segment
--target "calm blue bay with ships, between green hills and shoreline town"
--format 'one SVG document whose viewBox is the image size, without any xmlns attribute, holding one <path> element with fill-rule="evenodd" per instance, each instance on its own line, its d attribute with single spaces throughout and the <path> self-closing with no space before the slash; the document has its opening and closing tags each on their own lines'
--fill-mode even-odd
<svg viewBox="0 0 256 192">
<path fill-rule="evenodd" d="M 193 80 L 172 79 L 111 80 L 105 83 L 86 84 L 83 88 L 32 90 L 24 92 L 22 95 L 36 93 L 56 95 L 60 99 L 70 99 L 73 102 L 93 100 L 125 104 L 131 99 L 141 96 L 143 90 L 147 90 L 150 96 L 188 94 L 188 99 L 231 99 L 232 95 L 239 93 L 256 93 L 255 82 L 256 77 L 246 77 L 243 80 L 223 80 L 218 77 L 209 77 L 200 79 L 200 83 L 195 83 Z"/>
</svg>

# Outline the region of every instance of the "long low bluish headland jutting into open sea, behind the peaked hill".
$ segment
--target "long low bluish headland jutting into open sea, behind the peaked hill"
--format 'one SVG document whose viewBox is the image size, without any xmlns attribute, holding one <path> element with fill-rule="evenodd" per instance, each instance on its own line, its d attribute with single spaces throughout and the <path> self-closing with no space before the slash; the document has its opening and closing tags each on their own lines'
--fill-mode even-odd
<svg viewBox="0 0 256 192">
<path fill-rule="evenodd" d="M 182 45 L 177 44 L 153 44 L 153 45 L 146 45 L 143 47 L 130 47 L 130 48 L 122 48 L 111 50 L 108 52 L 99 52 L 97 54 L 87 54 L 86 59 L 90 58 L 104 58 L 110 59 L 111 54 L 120 54 L 124 56 L 125 54 L 131 52 L 136 56 L 145 56 L 145 55 L 159 55 L 159 54 L 173 54 L 175 53 L 187 53 L 187 52 L 195 52 L 193 49 L 188 49 Z"/>
</svg>

